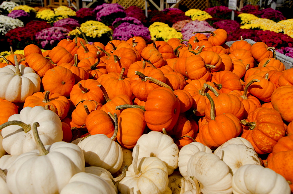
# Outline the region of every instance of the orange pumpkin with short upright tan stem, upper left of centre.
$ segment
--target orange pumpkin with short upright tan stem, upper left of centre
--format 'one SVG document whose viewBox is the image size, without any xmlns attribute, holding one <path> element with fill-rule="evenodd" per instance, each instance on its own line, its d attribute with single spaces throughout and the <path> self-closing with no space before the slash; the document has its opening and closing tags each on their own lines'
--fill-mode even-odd
<svg viewBox="0 0 293 194">
<path fill-rule="evenodd" d="M 106 79 L 103 84 L 110 99 L 113 99 L 119 94 L 124 94 L 130 99 L 133 99 L 135 97 L 130 89 L 130 77 L 122 77 L 122 75 L 124 74 L 124 70 L 125 68 L 122 67 L 121 73 L 118 77 L 110 77 Z"/>
</svg>

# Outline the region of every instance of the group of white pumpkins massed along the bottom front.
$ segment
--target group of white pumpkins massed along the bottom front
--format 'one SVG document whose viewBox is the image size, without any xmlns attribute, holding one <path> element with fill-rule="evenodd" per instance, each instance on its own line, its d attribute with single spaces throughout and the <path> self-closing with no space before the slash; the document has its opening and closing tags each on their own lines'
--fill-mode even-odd
<svg viewBox="0 0 293 194">
<path fill-rule="evenodd" d="M 214 152 L 198 142 L 179 150 L 170 136 L 151 131 L 132 152 L 115 142 L 117 126 L 115 115 L 111 138 L 96 134 L 67 143 L 56 113 L 23 108 L 0 126 L 0 193 L 291 192 L 244 138 L 232 138 Z"/>
</svg>

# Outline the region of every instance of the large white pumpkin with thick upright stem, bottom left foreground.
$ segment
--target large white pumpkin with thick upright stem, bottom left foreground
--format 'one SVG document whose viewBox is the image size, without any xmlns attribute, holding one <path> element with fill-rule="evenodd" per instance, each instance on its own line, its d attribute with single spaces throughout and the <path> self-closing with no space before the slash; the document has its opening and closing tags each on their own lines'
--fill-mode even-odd
<svg viewBox="0 0 293 194">
<path fill-rule="evenodd" d="M 44 146 L 38 135 L 38 123 L 32 126 L 38 150 L 19 155 L 8 169 L 6 182 L 13 194 L 60 193 L 71 177 L 84 172 L 84 154 L 73 143 L 64 141 Z"/>
</svg>

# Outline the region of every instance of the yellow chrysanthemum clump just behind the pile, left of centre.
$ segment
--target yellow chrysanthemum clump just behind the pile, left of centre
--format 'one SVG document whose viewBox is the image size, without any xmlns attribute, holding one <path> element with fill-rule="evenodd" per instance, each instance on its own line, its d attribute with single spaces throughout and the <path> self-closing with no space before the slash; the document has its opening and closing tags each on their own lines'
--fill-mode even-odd
<svg viewBox="0 0 293 194">
<path fill-rule="evenodd" d="M 111 30 L 111 28 L 109 28 L 102 22 L 93 21 L 93 20 L 89 20 L 82 23 L 79 28 L 82 30 L 82 32 L 84 32 L 84 34 L 87 37 L 92 37 L 92 38 L 96 38 L 96 37 L 99 38 L 105 33 L 110 33 L 111 35 L 113 34 L 113 31 Z M 76 36 L 77 34 L 79 35 L 81 34 L 80 31 L 77 29 L 69 32 L 69 36 Z"/>
</svg>

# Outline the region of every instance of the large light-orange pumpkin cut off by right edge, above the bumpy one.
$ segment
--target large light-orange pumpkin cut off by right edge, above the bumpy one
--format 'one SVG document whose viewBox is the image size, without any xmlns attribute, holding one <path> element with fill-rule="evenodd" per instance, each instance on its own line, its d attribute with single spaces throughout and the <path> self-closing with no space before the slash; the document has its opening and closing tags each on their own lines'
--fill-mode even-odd
<svg viewBox="0 0 293 194">
<path fill-rule="evenodd" d="M 293 86 L 280 86 L 275 89 L 271 96 L 272 106 L 280 112 L 282 119 L 287 122 L 293 120 Z"/>
</svg>

